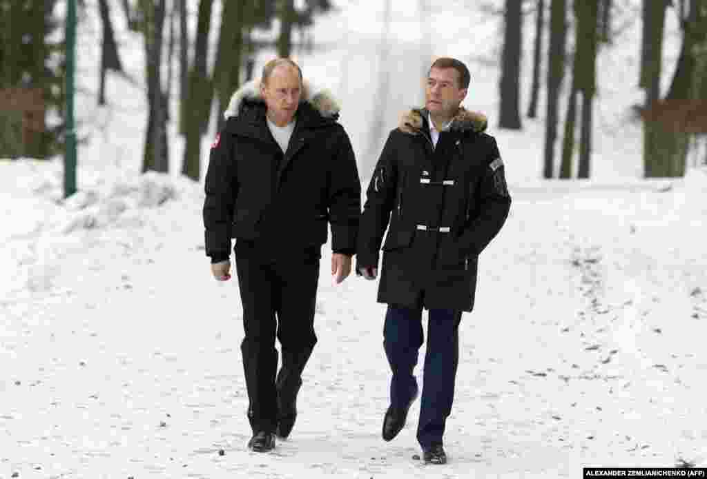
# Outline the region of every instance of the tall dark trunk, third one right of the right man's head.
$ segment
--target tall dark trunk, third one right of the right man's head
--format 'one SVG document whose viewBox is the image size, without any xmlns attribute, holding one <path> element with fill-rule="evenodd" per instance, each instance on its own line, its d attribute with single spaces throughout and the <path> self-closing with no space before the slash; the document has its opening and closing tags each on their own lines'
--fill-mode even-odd
<svg viewBox="0 0 707 479">
<path fill-rule="evenodd" d="M 547 121 L 545 124 L 544 178 L 552 178 L 553 174 L 559 95 L 565 72 L 565 44 L 567 41 L 566 11 L 566 0 L 551 0 L 550 47 L 547 61 Z"/>
</svg>

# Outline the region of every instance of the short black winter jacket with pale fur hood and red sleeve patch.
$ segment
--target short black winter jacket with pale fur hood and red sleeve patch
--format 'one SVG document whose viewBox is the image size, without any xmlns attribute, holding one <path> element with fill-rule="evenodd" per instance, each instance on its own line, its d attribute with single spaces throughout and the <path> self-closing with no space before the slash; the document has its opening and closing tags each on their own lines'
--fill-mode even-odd
<svg viewBox="0 0 707 479">
<path fill-rule="evenodd" d="M 206 255 L 228 259 L 231 238 L 278 253 L 327 242 L 334 253 L 356 250 L 361 183 L 339 108 L 327 93 L 308 94 L 283 154 L 266 123 L 257 83 L 235 92 L 227 121 L 211 147 L 206 171 Z"/>
</svg>

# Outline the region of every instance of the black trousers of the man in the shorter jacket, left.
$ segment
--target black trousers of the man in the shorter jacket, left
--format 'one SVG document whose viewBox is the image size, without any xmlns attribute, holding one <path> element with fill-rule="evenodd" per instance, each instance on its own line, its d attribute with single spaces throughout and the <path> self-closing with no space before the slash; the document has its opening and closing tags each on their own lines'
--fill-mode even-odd
<svg viewBox="0 0 707 479">
<path fill-rule="evenodd" d="M 314 315 L 319 280 L 319 250 L 280 254 L 267 260 L 247 245 L 237 245 L 236 272 L 243 303 L 245 337 L 240 346 L 253 432 L 274 432 L 277 395 L 293 396 L 317 343 Z M 282 366 L 276 375 L 280 341 Z"/>
</svg>

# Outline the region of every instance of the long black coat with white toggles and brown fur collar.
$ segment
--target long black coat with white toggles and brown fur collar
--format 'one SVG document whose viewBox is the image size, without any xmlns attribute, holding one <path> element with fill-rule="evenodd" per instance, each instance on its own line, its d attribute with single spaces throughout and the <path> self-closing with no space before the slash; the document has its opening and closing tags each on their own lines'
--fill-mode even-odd
<svg viewBox="0 0 707 479">
<path fill-rule="evenodd" d="M 382 243 L 379 302 L 471 311 L 479 254 L 510 210 L 504 166 L 485 116 L 460 108 L 436 147 L 427 117 L 409 111 L 387 138 L 363 206 L 357 272 L 378 266 Z"/>
</svg>

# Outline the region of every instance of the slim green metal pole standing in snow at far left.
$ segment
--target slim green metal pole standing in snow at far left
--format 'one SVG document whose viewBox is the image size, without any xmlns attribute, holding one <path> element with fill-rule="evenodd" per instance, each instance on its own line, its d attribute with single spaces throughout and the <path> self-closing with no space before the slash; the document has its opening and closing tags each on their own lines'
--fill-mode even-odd
<svg viewBox="0 0 707 479">
<path fill-rule="evenodd" d="M 76 71 L 76 0 L 66 9 L 66 151 L 64 198 L 76 193 L 76 127 L 74 125 L 74 71 Z"/>
</svg>

